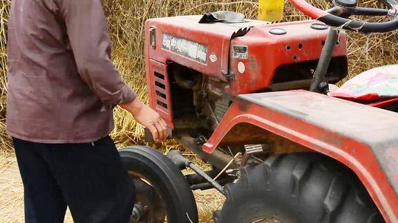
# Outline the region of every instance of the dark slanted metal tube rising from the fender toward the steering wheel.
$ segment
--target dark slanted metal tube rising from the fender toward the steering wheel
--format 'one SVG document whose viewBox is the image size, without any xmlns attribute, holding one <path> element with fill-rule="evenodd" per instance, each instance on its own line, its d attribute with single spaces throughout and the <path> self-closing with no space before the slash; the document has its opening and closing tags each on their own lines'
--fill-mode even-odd
<svg viewBox="0 0 398 223">
<path fill-rule="evenodd" d="M 325 45 L 323 46 L 318 65 L 316 66 L 314 79 L 310 87 L 311 92 L 317 92 L 319 84 L 325 81 L 325 76 L 328 72 L 330 61 L 332 61 L 334 47 L 336 46 L 338 39 L 339 34 L 337 33 L 337 30 L 331 27 L 328 37 L 326 38 Z"/>
</svg>

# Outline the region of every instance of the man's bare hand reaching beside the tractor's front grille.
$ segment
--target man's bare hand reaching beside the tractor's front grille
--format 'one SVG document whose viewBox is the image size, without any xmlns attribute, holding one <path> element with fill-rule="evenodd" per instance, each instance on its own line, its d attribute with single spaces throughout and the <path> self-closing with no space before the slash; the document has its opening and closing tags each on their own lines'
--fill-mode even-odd
<svg viewBox="0 0 398 223">
<path fill-rule="evenodd" d="M 140 99 L 135 98 L 131 103 L 120 105 L 120 107 L 133 114 L 138 123 L 149 129 L 155 142 L 167 140 L 168 132 L 166 123 L 156 111 L 146 106 Z"/>
</svg>

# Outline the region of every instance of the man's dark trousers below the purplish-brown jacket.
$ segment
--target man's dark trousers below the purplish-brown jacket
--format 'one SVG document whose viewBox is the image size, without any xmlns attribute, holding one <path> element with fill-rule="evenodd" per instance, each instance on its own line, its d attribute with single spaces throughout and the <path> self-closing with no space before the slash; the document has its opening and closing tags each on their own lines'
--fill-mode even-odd
<svg viewBox="0 0 398 223">
<path fill-rule="evenodd" d="M 24 187 L 26 223 L 126 223 L 135 189 L 110 137 L 82 144 L 14 138 Z"/>
</svg>

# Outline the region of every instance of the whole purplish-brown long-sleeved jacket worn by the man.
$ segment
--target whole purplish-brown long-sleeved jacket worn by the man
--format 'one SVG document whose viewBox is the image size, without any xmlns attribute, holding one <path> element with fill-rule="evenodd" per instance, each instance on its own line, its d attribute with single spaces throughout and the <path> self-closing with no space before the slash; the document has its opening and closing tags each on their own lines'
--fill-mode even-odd
<svg viewBox="0 0 398 223">
<path fill-rule="evenodd" d="M 22 140 L 93 142 L 136 96 L 111 61 L 101 0 L 12 0 L 8 65 L 7 132 Z"/>
</svg>

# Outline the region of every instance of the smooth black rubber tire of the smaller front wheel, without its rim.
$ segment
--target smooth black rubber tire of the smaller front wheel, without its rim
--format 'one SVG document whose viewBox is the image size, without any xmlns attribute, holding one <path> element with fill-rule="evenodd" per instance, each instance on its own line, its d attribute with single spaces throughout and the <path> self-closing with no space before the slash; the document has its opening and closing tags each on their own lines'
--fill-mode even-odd
<svg viewBox="0 0 398 223">
<path fill-rule="evenodd" d="M 169 158 L 144 146 L 126 147 L 119 153 L 127 171 L 139 173 L 160 193 L 167 209 L 167 222 L 198 222 L 191 187 Z"/>
</svg>

